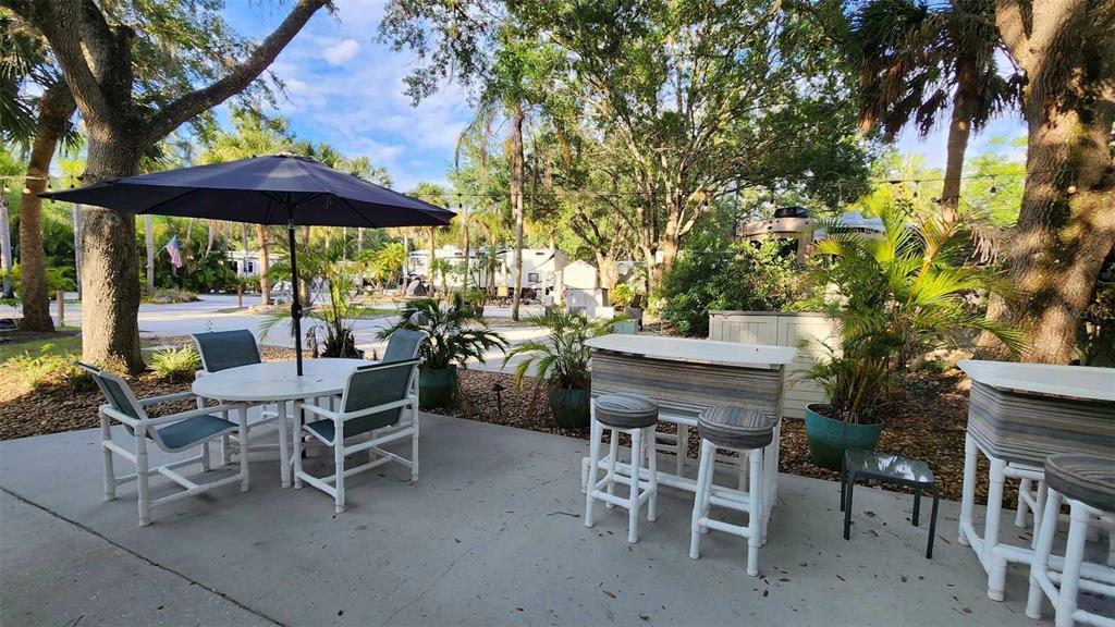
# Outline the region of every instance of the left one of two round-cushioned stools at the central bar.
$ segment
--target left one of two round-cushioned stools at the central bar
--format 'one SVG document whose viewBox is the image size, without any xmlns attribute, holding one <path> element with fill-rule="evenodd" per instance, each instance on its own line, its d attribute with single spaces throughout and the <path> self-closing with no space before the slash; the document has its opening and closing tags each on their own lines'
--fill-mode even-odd
<svg viewBox="0 0 1115 627">
<path fill-rule="evenodd" d="M 619 505 L 628 510 L 628 542 L 639 541 L 639 510 L 649 501 L 647 520 L 655 522 L 658 500 L 658 465 L 655 451 L 655 425 L 658 424 L 658 404 L 638 394 L 603 394 L 592 401 L 591 442 L 589 444 L 589 483 L 584 498 L 584 525 L 592 527 L 592 504 L 603 501 L 605 507 Z M 607 474 L 597 482 L 600 466 L 600 441 L 604 430 L 611 430 Z M 631 436 L 631 464 L 619 463 L 621 433 Z M 647 467 L 643 461 L 647 460 Z M 648 476 L 649 473 L 649 476 Z M 615 484 L 630 486 L 630 496 L 615 495 Z M 603 490 L 603 491 L 602 491 Z"/>
</svg>

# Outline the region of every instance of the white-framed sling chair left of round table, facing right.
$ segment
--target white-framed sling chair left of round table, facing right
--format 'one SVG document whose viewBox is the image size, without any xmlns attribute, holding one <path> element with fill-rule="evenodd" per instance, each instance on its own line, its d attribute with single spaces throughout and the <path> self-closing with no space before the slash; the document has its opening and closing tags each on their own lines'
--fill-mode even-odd
<svg viewBox="0 0 1115 627">
<path fill-rule="evenodd" d="M 209 492 L 214 488 L 234 482 L 240 482 L 242 491 L 248 490 L 248 456 L 245 454 L 241 454 L 240 472 L 237 474 L 207 483 L 196 483 L 175 472 L 176 469 L 193 464 L 198 464 L 203 473 L 209 472 L 210 441 L 231 433 L 239 434 L 248 421 L 246 406 L 232 404 L 216 405 L 168 416 L 151 417 L 147 415 L 147 407 L 162 403 L 188 401 L 195 398 L 194 394 L 192 392 L 183 392 L 180 394 L 137 399 L 132 388 L 128 387 L 128 384 L 116 375 L 80 361 L 75 361 L 74 364 L 93 375 L 93 379 L 108 401 L 107 404 L 100 406 L 100 446 L 104 455 L 106 501 L 116 499 L 116 488 L 118 485 L 135 481 L 139 501 L 139 524 L 146 527 L 151 523 L 151 509 L 153 507 Z M 232 411 L 237 412 L 239 422 L 236 423 L 216 415 L 227 414 Z M 133 451 L 113 441 L 113 421 L 122 423 L 135 438 L 135 448 Z M 151 467 L 147 460 L 148 440 L 166 453 L 182 453 L 201 446 L 201 454 Z M 246 438 L 241 438 L 241 441 L 246 442 Z M 135 474 L 116 476 L 113 469 L 114 453 L 134 463 L 136 465 Z M 183 488 L 183 491 L 153 500 L 148 488 L 148 478 L 156 474 L 161 474 L 177 483 Z"/>
</svg>

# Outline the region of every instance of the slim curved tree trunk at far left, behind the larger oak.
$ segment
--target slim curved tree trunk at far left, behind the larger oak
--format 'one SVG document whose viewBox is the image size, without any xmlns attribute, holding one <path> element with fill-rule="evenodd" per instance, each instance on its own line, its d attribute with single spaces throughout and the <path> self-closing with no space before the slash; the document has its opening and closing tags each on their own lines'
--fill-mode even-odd
<svg viewBox="0 0 1115 627">
<path fill-rule="evenodd" d="M 50 293 L 47 289 L 47 258 L 42 250 L 42 199 L 47 187 L 50 162 L 58 147 L 58 139 L 66 132 L 69 118 L 74 116 L 74 96 L 66 83 L 50 86 L 39 99 L 39 118 L 36 123 L 35 139 L 31 142 L 31 157 L 27 165 L 27 182 L 19 203 L 19 268 L 22 273 L 20 298 L 23 301 L 23 319 L 20 327 L 29 331 L 51 331 Z"/>
</svg>

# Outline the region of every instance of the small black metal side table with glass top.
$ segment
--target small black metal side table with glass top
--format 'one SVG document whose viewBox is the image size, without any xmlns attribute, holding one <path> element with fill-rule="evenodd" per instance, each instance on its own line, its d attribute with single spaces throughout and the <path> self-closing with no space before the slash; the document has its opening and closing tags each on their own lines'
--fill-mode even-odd
<svg viewBox="0 0 1115 627">
<path fill-rule="evenodd" d="M 881 483 L 908 485 L 913 489 L 913 525 L 918 527 L 921 513 L 921 493 L 928 491 L 933 495 L 933 511 L 929 521 L 929 544 L 925 558 L 933 557 L 933 537 L 937 534 L 937 505 L 941 495 L 933 479 L 933 472 L 921 460 L 912 460 L 890 453 L 874 453 L 852 448 L 844 452 L 844 470 L 841 473 L 840 509 L 844 512 L 844 539 L 851 539 L 852 530 L 852 493 L 855 480 L 874 479 Z"/>
</svg>

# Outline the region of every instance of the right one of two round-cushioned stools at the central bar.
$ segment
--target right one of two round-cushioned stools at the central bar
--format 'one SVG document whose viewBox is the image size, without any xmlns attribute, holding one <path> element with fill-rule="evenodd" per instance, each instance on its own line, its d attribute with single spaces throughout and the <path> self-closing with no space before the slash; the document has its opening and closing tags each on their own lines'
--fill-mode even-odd
<svg viewBox="0 0 1115 627">
<path fill-rule="evenodd" d="M 774 440 L 775 417 L 767 411 L 734 405 L 719 405 L 705 412 L 697 419 L 700 434 L 700 470 L 697 474 L 697 493 L 694 499 L 689 557 L 700 558 L 700 537 L 709 529 L 747 538 L 747 575 L 759 573 L 759 546 L 763 543 L 763 519 L 768 513 L 764 492 L 770 490 L 764 472 L 763 451 Z M 716 450 L 731 448 L 739 452 L 740 463 L 747 457 L 748 490 L 744 495 L 718 489 L 712 484 Z M 777 464 L 777 461 L 774 462 Z M 777 472 L 777 470 L 775 471 Z M 747 527 L 710 519 L 711 505 L 747 514 Z"/>
</svg>

